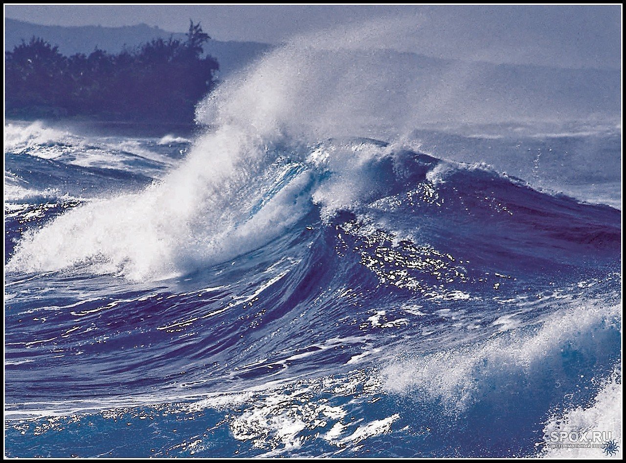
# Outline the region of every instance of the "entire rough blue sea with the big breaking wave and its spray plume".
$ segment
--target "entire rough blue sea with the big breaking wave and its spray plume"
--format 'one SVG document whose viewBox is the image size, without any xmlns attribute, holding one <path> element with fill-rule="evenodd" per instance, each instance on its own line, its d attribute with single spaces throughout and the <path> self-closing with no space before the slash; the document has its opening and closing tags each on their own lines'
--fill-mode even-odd
<svg viewBox="0 0 626 463">
<path fill-rule="evenodd" d="M 408 69 L 359 66 L 285 46 L 195 137 L 5 126 L 9 456 L 621 444 L 618 129 L 397 136 Z M 608 166 L 585 183 L 572 156 Z"/>
</svg>

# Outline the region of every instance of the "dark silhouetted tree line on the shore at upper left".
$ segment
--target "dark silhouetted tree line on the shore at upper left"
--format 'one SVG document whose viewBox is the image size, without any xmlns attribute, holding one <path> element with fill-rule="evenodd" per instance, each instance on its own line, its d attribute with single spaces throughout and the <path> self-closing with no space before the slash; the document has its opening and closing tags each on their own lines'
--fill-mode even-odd
<svg viewBox="0 0 626 463">
<path fill-rule="evenodd" d="M 215 85 L 218 63 L 202 56 L 210 39 L 190 21 L 184 41 L 153 39 L 118 54 L 64 56 L 41 38 L 6 52 L 8 113 L 53 108 L 128 120 L 193 120 L 194 106 Z"/>
</svg>

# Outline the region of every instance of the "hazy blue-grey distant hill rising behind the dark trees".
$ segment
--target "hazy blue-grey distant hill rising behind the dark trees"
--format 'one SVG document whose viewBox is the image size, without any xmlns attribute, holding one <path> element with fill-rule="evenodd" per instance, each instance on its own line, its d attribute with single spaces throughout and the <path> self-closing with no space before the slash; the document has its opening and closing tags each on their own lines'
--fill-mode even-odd
<svg viewBox="0 0 626 463">
<path fill-rule="evenodd" d="M 33 36 L 41 37 L 57 45 L 61 53 L 70 55 L 91 53 L 96 46 L 109 53 L 118 53 L 125 46 L 132 48 L 151 39 L 170 36 L 182 39 L 185 35 L 164 31 L 156 26 L 150 27 L 147 24 L 103 28 L 101 26 L 41 26 L 9 18 L 5 18 L 4 21 L 4 51 L 13 50 L 14 46 L 20 44 L 22 40 L 28 41 Z M 210 35 L 211 31 L 207 33 Z M 205 46 L 205 52 L 220 63 L 222 78 L 244 68 L 270 49 L 272 45 L 267 43 L 219 40 L 210 40 Z"/>
</svg>

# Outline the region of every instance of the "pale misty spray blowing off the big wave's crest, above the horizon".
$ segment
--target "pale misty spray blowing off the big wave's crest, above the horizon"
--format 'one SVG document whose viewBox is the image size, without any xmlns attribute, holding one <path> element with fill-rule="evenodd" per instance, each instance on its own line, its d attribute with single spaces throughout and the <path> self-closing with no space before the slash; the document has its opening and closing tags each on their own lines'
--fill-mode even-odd
<svg viewBox="0 0 626 463">
<path fill-rule="evenodd" d="M 294 38 L 222 85 L 199 106 L 198 120 L 245 120 L 258 130 L 278 125 L 316 139 L 386 141 L 429 124 L 534 123 L 540 130 L 546 123 L 619 121 L 615 71 L 396 51 L 402 35 L 420 23 L 419 17 L 387 18 Z"/>
</svg>

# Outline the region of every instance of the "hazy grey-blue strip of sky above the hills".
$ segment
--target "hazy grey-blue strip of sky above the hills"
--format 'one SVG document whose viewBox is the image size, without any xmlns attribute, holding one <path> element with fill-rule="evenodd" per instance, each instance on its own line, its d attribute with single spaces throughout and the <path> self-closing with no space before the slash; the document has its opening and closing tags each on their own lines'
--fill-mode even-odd
<svg viewBox="0 0 626 463">
<path fill-rule="evenodd" d="M 319 29 L 384 24 L 381 46 L 441 58 L 620 68 L 621 6 L 6 5 L 6 17 L 59 26 L 146 23 L 220 40 L 279 43 Z M 398 21 L 396 21 L 396 19 Z"/>
</svg>

